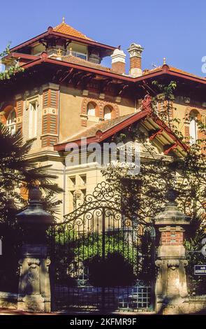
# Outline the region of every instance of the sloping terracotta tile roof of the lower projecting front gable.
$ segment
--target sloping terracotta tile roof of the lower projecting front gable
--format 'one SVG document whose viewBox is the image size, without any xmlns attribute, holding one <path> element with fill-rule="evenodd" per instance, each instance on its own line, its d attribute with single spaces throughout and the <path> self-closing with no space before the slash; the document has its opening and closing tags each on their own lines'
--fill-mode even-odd
<svg viewBox="0 0 206 329">
<path fill-rule="evenodd" d="M 66 141 L 62 141 L 62 143 L 70 142 L 70 141 L 78 141 L 81 138 L 89 138 L 89 137 L 95 137 L 96 132 L 106 132 L 112 127 L 115 127 L 115 125 L 118 125 L 119 123 L 122 123 L 122 121 L 126 120 L 127 118 L 130 118 L 131 116 L 134 116 L 136 113 L 130 113 L 126 116 L 119 116 L 118 118 L 111 119 L 111 120 L 105 120 L 101 123 L 98 123 L 96 125 L 93 125 L 86 130 L 80 132 L 79 134 L 71 136 L 69 139 L 66 139 Z"/>
</svg>

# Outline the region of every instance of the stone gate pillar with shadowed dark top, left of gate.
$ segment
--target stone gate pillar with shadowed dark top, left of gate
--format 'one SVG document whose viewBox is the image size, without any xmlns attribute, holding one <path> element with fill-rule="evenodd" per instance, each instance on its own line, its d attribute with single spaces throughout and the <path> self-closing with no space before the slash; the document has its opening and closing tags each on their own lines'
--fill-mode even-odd
<svg viewBox="0 0 206 329">
<path fill-rule="evenodd" d="M 22 311 L 51 310 L 46 230 L 53 221 L 53 216 L 43 210 L 41 191 L 30 190 L 29 206 L 17 214 L 17 222 L 24 232 L 17 300 L 17 309 Z"/>
</svg>

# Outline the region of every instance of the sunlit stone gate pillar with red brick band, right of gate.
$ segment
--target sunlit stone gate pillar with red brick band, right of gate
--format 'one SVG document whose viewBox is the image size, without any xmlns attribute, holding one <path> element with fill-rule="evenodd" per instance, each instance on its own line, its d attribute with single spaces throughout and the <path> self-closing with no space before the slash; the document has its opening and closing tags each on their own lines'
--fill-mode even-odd
<svg viewBox="0 0 206 329">
<path fill-rule="evenodd" d="M 168 203 L 163 212 L 154 218 L 159 230 L 159 248 L 156 260 L 156 312 L 159 314 L 183 314 L 188 305 L 184 249 L 184 232 L 191 218 L 177 208 L 177 193 L 168 192 Z"/>
</svg>

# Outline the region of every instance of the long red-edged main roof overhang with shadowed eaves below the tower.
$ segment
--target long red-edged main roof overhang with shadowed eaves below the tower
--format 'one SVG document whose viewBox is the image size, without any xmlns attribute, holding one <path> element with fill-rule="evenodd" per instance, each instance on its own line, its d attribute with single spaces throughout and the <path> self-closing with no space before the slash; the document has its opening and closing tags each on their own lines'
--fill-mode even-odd
<svg viewBox="0 0 206 329">
<path fill-rule="evenodd" d="M 9 56 L 17 56 L 10 54 Z M 28 57 L 31 55 L 25 55 Z M 33 57 L 32 57 L 33 58 Z M 31 57 L 30 57 L 31 59 Z M 114 71 L 110 71 L 108 69 L 104 69 L 101 66 L 99 68 L 85 66 L 83 64 L 64 62 L 58 59 L 52 59 L 48 57 L 47 52 L 43 52 L 39 57 L 35 57 L 35 59 L 29 60 L 29 62 L 21 65 L 24 69 L 24 72 L 17 72 L 15 76 L 12 76 L 9 80 L 1 80 L 0 85 L 2 85 L 2 93 L 10 94 L 10 90 L 14 90 L 16 87 L 17 81 L 21 81 L 18 83 L 18 86 L 22 86 L 21 88 L 17 88 L 19 92 L 21 92 L 24 87 L 24 83 L 22 83 L 25 78 L 27 79 L 31 74 L 33 75 L 33 80 L 30 85 L 33 83 L 45 83 L 45 80 L 52 79 L 55 80 L 56 83 L 62 83 L 61 79 L 62 75 L 68 76 L 72 71 L 80 71 L 80 73 L 84 73 L 86 75 L 93 76 L 93 78 L 101 78 L 102 80 L 111 79 L 112 84 L 116 85 L 118 89 L 122 88 L 124 92 L 131 91 L 132 93 L 136 93 L 136 97 L 142 98 L 145 97 L 145 87 L 146 89 L 150 86 L 150 91 L 155 92 L 155 86 L 152 85 L 153 80 L 158 80 L 160 83 L 170 83 L 171 80 L 177 81 L 178 90 L 181 94 L 188 94 L 191 92 L 192 94 L 196 94 L 198 99 L 202 99 L 202 102 L 205 102 L 205 85 L 206 79 L 200 78 L 198 76 L 189 76 L 189 74 L 174 71 L 168 65 L 163 65 L 161 68 L 156 69 L 154 71 L 150 71 L 147 74 L 143 74 L 138 78 L 132 78 L 131 76 L 118 74 Z M 26 62 L 26 60 L 25 60 Z M 58 73 L 61 72 L 61 73 Z M 58 73 L 58 74 L 57 74 Z M 60 78 L 59 78 L 60 74 Z M 80 75 L 81 76 L 81 75 Z M 27 79 L 27 84 L 31 79 Z M 35 82 L 36 81 L 36 82 Z M 64 81 L 66 83 L 66 80 Z M 10 89 L 12 87 L 12 89 Z M 178 91 L 177 90 L 177 91 Z M 119 91 L 118 91 L 119 92 Z M 147 90 L 148 92 L 148 90 Z M 175 91 L 176 92 L 176 91 Z M 118 96 L 118 94 L 117 94 Z"/>
</svg>

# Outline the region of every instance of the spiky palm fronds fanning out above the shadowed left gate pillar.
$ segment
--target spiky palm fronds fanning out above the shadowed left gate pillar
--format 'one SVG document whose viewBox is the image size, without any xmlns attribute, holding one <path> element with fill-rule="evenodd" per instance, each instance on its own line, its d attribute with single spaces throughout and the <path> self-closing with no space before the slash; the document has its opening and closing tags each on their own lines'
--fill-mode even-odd
<svg viewBox="0 0 206 329">
<path fill-rule="evenodd" d="M 22 187 L 28 190 L 38 183 L 45 193 L 45 208 L 50 207 L 51 197 L 61 191 L 54 183 L 57 176 L 48 174 L 50 166 L 37 167 L 27 159 L 32 144 L 33 140 L 23 141 L 20 131 L 11 135 L 0 123 L 0 222 L 13 222 L 13 214 L 27 204 L 20 194 Z"/>
</svg>

